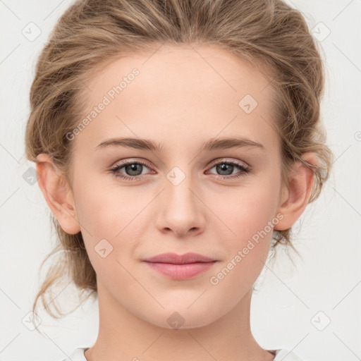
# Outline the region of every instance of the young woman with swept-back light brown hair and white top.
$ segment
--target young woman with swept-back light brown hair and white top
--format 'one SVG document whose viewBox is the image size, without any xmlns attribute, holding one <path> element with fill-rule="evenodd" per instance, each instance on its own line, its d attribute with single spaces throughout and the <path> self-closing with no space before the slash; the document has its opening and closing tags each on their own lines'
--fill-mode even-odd
<svg viewBox="0 0 361 361">
<path fill-rule="evenodd" d="M 25 141 L 51 255 L 99 300 L 97 341 L 71 360 L 300 360 L 257 343 L 250 301 L 329 176 L 323 87 L 305 19 L 280 0 L 68 8 Z M 54 262 L 34 310 L 63 278 Z"/>
</svg>

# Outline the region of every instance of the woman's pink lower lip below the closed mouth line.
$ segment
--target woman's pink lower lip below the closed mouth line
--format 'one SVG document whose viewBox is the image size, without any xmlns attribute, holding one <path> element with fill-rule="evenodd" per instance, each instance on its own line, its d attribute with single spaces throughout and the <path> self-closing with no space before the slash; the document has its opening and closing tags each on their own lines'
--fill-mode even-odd
<svg viewBox="0 0 361 361">
<path fill-rule="evenodd" d="M 146 262 L 155 271 L 171 277 L 171 279 L 191 279 L 210 269 L 214 262 L 195 262 L 186 264 Z"/>
</svg>

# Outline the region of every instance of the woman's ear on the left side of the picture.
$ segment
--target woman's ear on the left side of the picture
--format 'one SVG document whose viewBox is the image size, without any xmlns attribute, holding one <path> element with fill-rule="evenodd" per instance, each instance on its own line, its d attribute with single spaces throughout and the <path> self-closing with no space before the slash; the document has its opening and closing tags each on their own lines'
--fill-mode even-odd
<svg viewBox="0 0 361 361">
<path fill-rule="evenodd" d="M 80 225 L 75 212 L 73 192 L 66 178 L 56 170 L 49 154 L 39 154 L 37 160 L 37 181 L 51 212 L 63 231 L 69 234 L 78 233 Z"/>
</svg>

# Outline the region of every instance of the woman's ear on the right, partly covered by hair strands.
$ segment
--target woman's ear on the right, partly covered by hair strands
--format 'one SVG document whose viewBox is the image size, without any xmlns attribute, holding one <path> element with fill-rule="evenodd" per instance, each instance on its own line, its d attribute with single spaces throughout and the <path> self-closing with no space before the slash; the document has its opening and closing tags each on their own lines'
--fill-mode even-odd
<svg viewBox="0 0 361 361">
<path fill-rule="evenodd" d="M 317 165 L 317 156 L 312 152 L 302 154 L 302 159 L 312 165 Z M 295 161 L 293 172 L 290 174 L 290 183 L 283 188 L 278 212 L 283 214 L 283 219 L 274 226 L 274 230 L 285 230 L 293 226 L 300 218 L 310 200 L 314 184 L 314 171 Z"/>
</svg>

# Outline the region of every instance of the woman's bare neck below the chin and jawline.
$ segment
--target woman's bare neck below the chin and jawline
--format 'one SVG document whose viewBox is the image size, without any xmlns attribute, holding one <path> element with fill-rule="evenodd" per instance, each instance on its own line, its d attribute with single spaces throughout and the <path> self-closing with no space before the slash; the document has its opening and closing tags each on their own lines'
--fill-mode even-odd
<svg viewBox="0 0 361 361">
<path fill-rule="evenodd" d="M 99 334 L 85 357 L 88 361 L 274 360 L 252 336 L 251 297 L 252 290 L 207 326 L 166 329 L 131 314 L 98 284 Z"/>
</svg>

